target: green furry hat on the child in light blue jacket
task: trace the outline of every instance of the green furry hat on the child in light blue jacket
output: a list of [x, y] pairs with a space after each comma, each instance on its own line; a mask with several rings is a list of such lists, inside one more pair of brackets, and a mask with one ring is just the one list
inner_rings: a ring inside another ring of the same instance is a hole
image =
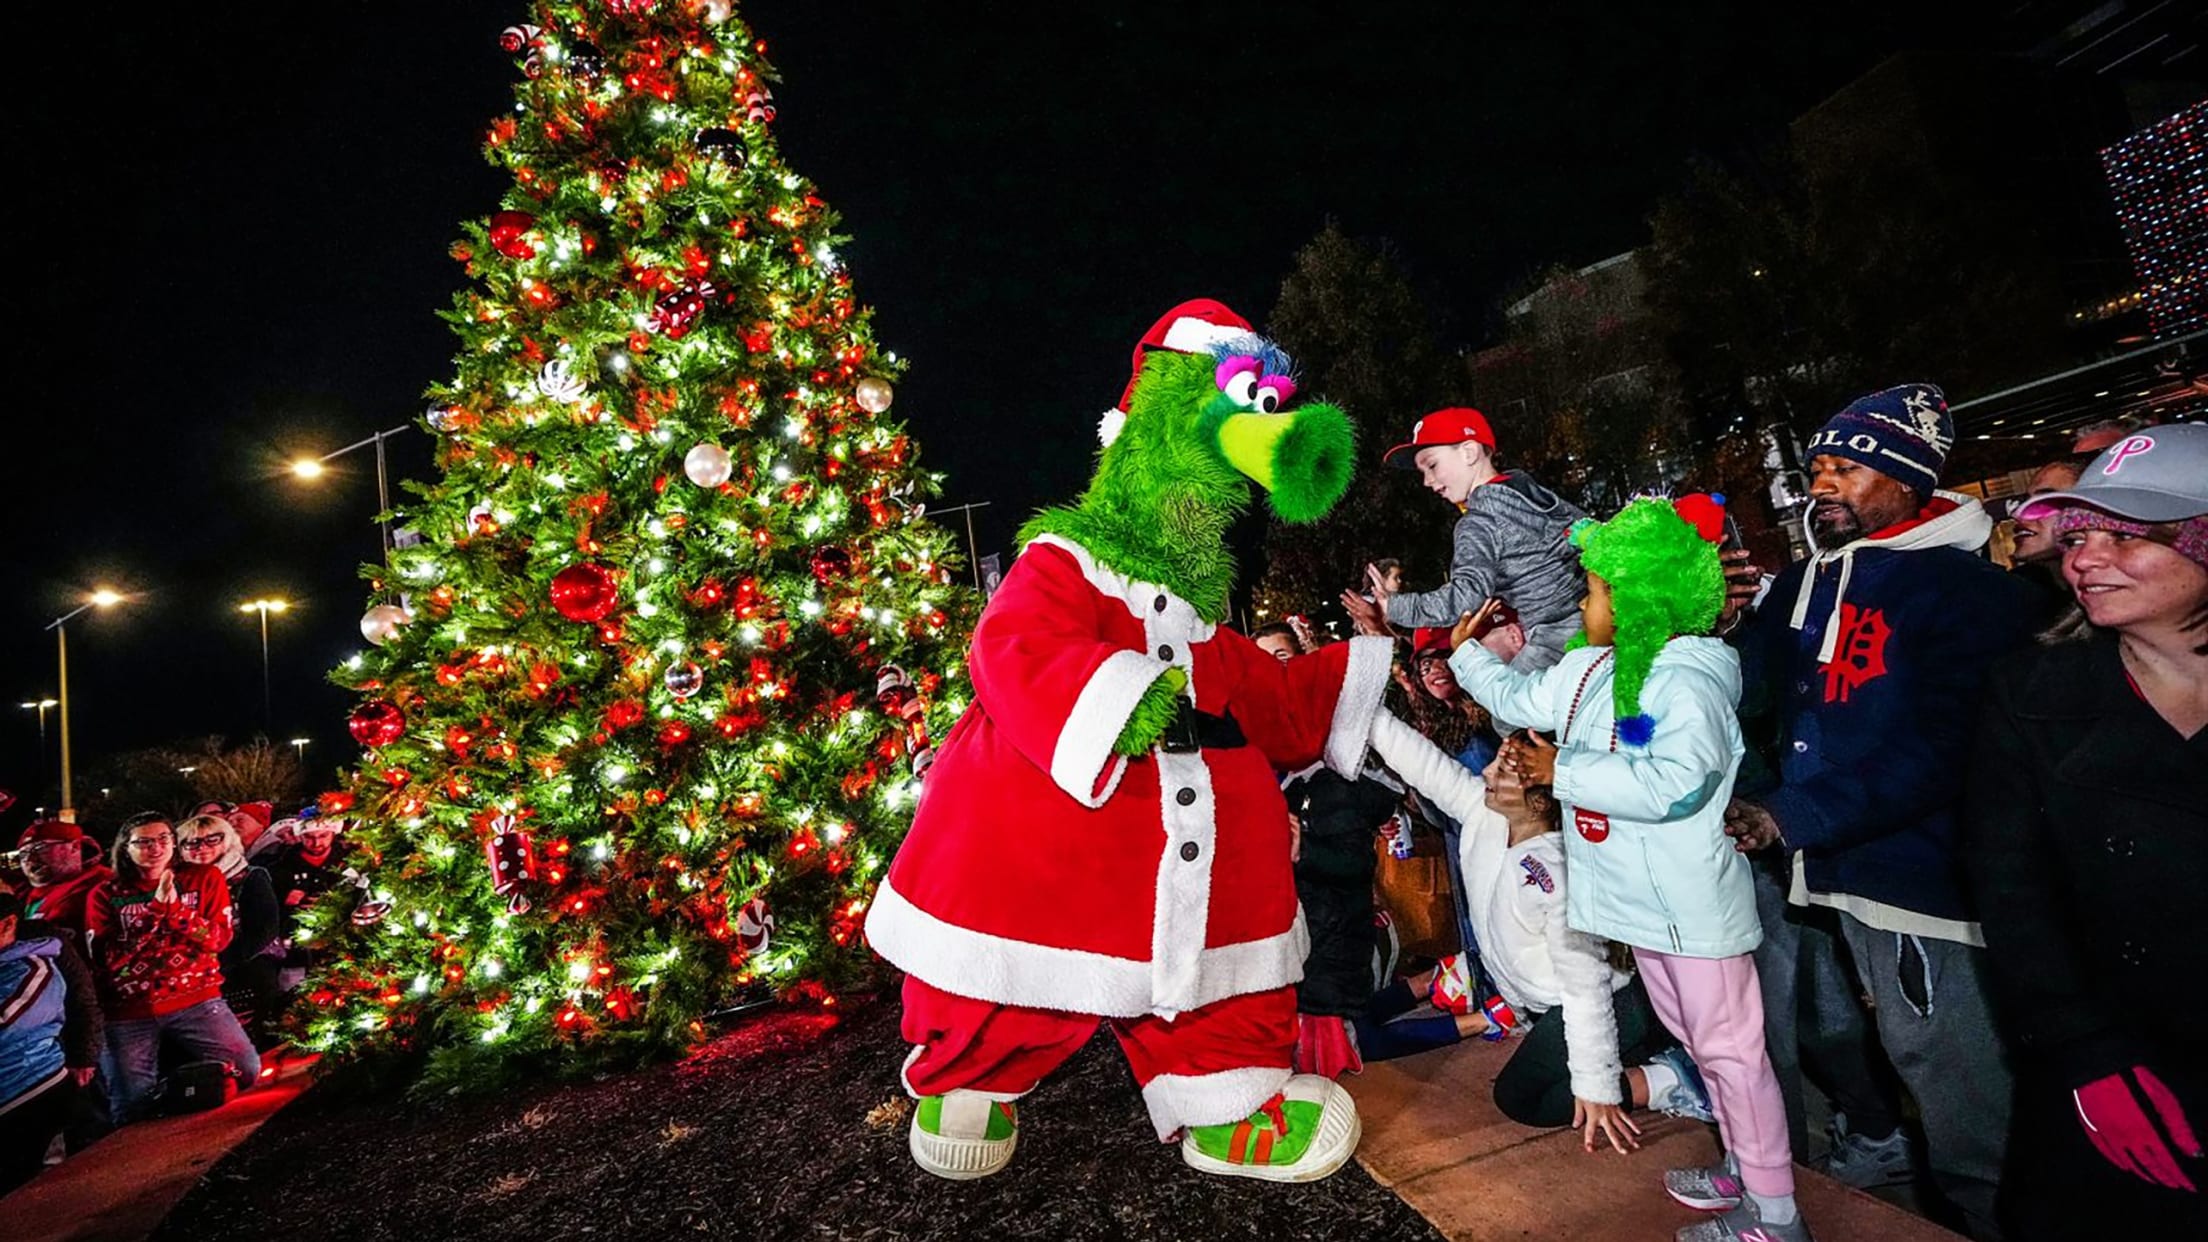
[[[1616, 623], [1616, 676], [1610, 703], [1618, 740], [1645, 747], [1656, 720], [1641, 712], [1641, 687], [1663, 645], [1678, 634], [1707, 634], [1724, 610], [1722, 495], [1641, 497], [1610, 522], [1579, 522], [1579, 564], [1610, 583]], [[1585, 645], [1585, 634], [1572, 641]]]

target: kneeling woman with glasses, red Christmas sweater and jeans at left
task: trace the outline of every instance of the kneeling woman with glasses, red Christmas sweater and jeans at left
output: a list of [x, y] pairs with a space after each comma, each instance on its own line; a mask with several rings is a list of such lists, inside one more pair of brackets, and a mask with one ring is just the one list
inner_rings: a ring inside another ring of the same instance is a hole
[[141, 813], [115, 840], [115, 880], [86, 911], [108, 1017], [106, 1078], [117, 1123], [144, 1116], [161, 1078], [161, 1045], [223, 1061], [252, 1087], [261, 1054], [223, 1003], [219, 955], [232, 937], [223, 873], [177, 862], [177, 829]]

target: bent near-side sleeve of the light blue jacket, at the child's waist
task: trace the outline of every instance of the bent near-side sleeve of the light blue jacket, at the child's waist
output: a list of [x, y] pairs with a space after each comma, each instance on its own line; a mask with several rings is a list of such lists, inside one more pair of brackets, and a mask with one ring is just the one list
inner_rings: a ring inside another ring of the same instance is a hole
[[1641, 690], [1656, 718], [1647, 747], [1570, 747], [1557, 754], [1557, 798], [1658, 824], [1700, 811], [1733, 776], [1731, 687], [1694, 667], [1658, 667]]

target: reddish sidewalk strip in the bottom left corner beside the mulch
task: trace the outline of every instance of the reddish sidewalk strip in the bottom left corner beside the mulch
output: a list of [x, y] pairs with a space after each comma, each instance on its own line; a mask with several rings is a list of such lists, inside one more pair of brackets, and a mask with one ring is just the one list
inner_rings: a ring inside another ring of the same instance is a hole
[[289, 1056], [212, 1112], [126, 1125], [0, 1198], [7, 1242], [139, 1242], [261, 1123], [307, 1090], [314, 1056]]

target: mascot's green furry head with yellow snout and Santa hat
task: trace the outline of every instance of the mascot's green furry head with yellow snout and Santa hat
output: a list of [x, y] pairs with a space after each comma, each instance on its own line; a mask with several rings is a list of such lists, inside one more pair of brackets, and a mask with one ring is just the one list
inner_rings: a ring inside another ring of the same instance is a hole
[[1225, 535], [1250, 484], [1265, 488], [1281, 519], [1316, 522], [1356, 469], [1342, 411], [1294, 398], [1287, 354], [1239, 314], [1210, 298], [1172, 307], [1135, 345], [1135, 376], [1104, 415], [1089, 491], [1038, 513], [1020, 541], [1064, 535], [1100, 564], [1172, 590], [1206, 621], [1225, 619], [1234, 586]]

